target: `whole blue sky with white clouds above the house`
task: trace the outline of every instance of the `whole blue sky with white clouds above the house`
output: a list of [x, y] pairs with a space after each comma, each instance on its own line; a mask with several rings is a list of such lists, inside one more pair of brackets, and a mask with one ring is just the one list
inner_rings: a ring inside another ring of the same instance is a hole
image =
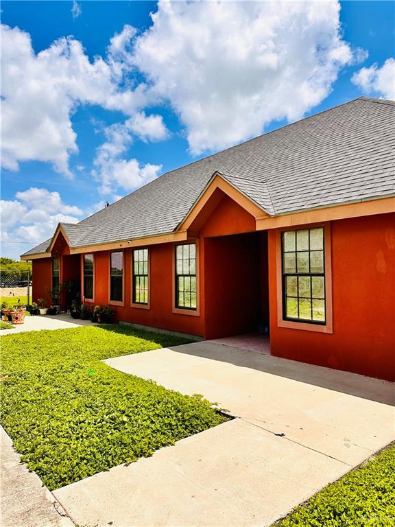
[[3, 1], [1, 254], [211, 152], [393, 98], [394, 5]]

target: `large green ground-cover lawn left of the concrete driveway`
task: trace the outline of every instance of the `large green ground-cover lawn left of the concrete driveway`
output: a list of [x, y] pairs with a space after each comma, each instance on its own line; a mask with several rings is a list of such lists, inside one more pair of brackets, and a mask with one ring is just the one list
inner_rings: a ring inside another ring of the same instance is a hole
[[57, 489], [226, 421], [101, 359], [187, 342], [103, 325], [1, 338], [1, 423], [30, 470]]

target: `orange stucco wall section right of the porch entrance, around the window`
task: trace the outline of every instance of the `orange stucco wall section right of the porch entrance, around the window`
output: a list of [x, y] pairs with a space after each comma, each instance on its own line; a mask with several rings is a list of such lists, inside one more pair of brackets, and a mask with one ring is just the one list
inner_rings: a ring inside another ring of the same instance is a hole
[[272, 355], [395, 380], [395, 213], [331, 223], [333, 333], [277, 326], [270, 232]]

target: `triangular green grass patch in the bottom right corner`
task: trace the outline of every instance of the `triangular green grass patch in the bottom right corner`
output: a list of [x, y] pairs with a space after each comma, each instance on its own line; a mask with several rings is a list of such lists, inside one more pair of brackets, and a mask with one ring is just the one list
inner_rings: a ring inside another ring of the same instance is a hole
[[276, 527], [394, 527], [395, 445], [325, 487]]

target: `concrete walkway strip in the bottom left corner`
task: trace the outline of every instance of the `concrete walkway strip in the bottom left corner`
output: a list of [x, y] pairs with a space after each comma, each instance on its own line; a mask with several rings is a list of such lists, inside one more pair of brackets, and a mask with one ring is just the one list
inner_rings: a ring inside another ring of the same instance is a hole
[[1, 527], [74, 527], [40, 478], [21, 465], [10, 437], [1, 432]]

